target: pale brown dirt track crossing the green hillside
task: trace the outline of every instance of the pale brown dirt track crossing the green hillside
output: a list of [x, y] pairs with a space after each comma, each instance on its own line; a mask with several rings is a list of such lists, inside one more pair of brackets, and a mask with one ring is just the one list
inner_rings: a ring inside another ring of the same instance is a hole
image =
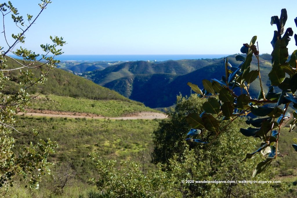
[[87, 119], [111, 119], [111, 120], [136, 120], [136, 119], [165, 119], [167, 115], [163, 113], [154, 113], [154, 112], [141, 112], [131, 116], [124, 117], [103, 117], [103, 116], [86, 116], [86, 115], [65, 115], [63, 112], [59, 114], [50, 114], [50, 113], [18, 113], [17, 115], [25, 116], [45, 116], [45, 117], [55, 117], [55, 118], [87, 118]]

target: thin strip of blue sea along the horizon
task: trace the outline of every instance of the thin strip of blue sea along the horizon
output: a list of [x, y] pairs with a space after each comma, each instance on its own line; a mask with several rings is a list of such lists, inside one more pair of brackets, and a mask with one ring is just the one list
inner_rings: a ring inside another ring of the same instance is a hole
[[177, 54], [177, 55], [60, 55], [60, 61], [167, 61], [182, 59], [222, 58], [227, 54]]

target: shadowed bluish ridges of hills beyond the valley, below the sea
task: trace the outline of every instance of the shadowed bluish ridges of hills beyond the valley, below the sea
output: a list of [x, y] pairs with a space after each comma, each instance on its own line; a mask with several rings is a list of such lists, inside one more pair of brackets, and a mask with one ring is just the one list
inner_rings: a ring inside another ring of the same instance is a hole
[[[241, 62], [235, 60], [236, 55], [229, 56], [229, 62], [238, 66]], [[262, 58], [263, 57], [263, 58]], [[252, 70], [257, 69], [257, 60], [253, 59]], [[268, 90], [268, 73], [271, 70], [271, 56], [260, 56], [260, 70], [263, 78], [263, 88]], [[168, 107], [176, 102], [176, 95], [191, 93], [187, 82], [202, 87], [202, 80], [216, 78], [221, 80], [225, 75], [224, 61], [221, 59], [181, 60], [150, 63], [135, 61], [110, 66], [102, 71], [90, 72], [87, 77], [102, 84], [129, 99], [143, 102], [151, 108]], [[257, 97], [259, 80], [250, 86], [250, 93]]]

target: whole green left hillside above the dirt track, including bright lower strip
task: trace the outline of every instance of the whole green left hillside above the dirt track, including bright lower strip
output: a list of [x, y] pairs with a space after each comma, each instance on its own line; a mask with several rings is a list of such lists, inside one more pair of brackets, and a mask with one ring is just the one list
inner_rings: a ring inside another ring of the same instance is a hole
[[[7, 65], [9, 68], [17, 67], [16, 62], [11, 59], [8, 59]], [[32, 69], [32, 72], [40, 75], [40, 69]], [[15, 70], [8, 75], [10, 80], [4, 93], [18, 93], [18, 83], [22, 80], [20, 71]], [[107, 117], [120, 117], [143, 111], [156, 112], [143, 103], [130, 100], [116, 91], [62, 69], [50, 70], [47, 79], [44, 85], [29, 87], [28, 91], [32, 95], [41, 94], [30, 102], [30, 109], [89, 113]]]

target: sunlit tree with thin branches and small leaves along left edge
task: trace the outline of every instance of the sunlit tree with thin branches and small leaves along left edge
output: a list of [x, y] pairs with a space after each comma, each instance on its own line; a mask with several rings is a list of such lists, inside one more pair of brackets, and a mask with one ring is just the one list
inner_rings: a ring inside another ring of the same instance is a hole
[[[27, 14], [26, 18], [19, 15], [18, 9], [10, 1], [0, 4], [3, 17], [1, 33], [4, 37], [4, 43], [1, 43], [0, 47], [0, 188], [7, 184], [12, 186], [15, 176], [24, 180], [26, 186], [29, 184], [31, 187], [37, 187], [38, 179], [50, 171], [47, 156], [53, 153], [57, 146], [50, 139], [39, 141], [37, 139], [37, 144], [30, 142], [17, 150], [14, 147], [15, 140], [12, 134], [12, 132], [18, 132], [14, 128], [13, 115], [23, 111], [32, 99], [28, 94], [28, 88], [37, 83], [44, 83], [49, 70], [59, 62], [54, 59], [55, 56], [63, 53], [61, 49], [56, 48], [65, 44], [62, 37], [50, 37], [53, 44], [40, 45], [44, 51], [42, 55], [22, 47], [15, 49], [18, 44], [25, 42], [28, 29], [36, 22], [49, 3], [51, 2], [48, 0], [41, 0], [39, 14], [36, 17]], [[8, 16], [19, 30], [17, 34], [10, 34], [12, 38], [8, 36], [10, 29], [4, 23]], [[9, 54], [14, 54], [23, 60], [12, 58]], [[12, 59], [14, 64], [8, 66], [7, 59]], [[34, 75], [32, 69], [39, 69], [40, 75]], [[15, 86], [18, 86], [18, 92], [5, 94], [6, 85], [11, 83], [9, 81], [11, 72], [18, 72], [20, 75], [15, 83]], [[33, 134], [37, 136], [38, 132], [33, 130]]]

